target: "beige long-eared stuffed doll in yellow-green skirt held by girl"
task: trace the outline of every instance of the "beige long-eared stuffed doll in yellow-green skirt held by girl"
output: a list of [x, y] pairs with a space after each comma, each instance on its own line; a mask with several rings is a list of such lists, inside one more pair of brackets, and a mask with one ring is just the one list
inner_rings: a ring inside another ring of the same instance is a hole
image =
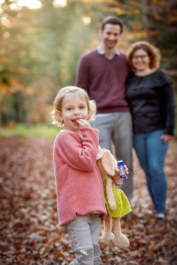
[[[116, 178], [119, 177], [117, 161], [109, 150], [103, 150], [99, 147], [97, 163], [104, 181], [104, 199], [108, 211], [106, 220], [104, 220], [102, 242], [108, 246], [118, 246], [124, 249], [129, 246], [130, 242], [126, 235], [121, 233], [120, 218], [130, 213], [132, 209], [126, 195], [117, 188], [122, 184], [121, 178], [119, 178], [118, 183], [115, 182], [115, 176]], [[112, 220], [114, 233], [112, 233]]]

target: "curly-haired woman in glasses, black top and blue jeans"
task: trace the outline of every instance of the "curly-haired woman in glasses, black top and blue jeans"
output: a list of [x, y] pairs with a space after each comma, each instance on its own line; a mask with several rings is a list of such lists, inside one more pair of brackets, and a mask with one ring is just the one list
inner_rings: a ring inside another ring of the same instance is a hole
[[134, 72], [127, 80], [134, 149], [145, 172], [156, 218], [163, 220], [167, 198], [163, 166], [169, 141], [174, 139], [172, 80], [158, 69], [161, 55], [150, 43], [134, 43], [128, 50], [127, 59]]

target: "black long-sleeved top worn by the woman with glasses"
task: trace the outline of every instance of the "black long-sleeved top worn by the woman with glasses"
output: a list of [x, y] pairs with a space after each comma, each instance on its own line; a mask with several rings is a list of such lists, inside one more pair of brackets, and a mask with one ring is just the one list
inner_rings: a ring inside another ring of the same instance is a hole
[[165, 129], [165, 133], [173, 135], [174, 93], [169, 76], [160, 70], [148, 76], [132, 74], [126, 85], [134, 133]]

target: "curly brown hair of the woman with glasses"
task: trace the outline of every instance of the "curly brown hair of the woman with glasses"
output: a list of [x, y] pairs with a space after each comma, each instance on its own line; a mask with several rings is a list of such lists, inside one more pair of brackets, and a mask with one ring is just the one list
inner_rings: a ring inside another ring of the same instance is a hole
[[150, 56], [150, 69], [158, 69], [161, 62], [161, 53], [158, 48], [154, 45], [148, 43], [147, 41], [137, 41], [137, 43], [133, 43], [127, 51], [126, 58], [132, 70], [134, 71], [134, 67], [132, 65], [132, 56], [135, 51], [138, 49], [143, 49], [147, 52], [148, 56]]

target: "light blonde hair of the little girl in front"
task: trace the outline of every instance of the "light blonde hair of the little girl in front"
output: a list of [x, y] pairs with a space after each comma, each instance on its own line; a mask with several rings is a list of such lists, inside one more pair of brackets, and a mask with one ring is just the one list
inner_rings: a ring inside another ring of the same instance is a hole
[[58, 119], [56, 112], [60, 112], [62, 114], [62, 101], [67, 93], [77, 93], [78, 95], [80, 95], [80, 97], [86, 101], [88, 108], [88, 120], [94, 119], [97, 112], [96, 102], [94, 100], [89, 100], [88, 94], [84, 89], [81, 89], [80, 87], [68, 86], [60, 89], [58, 91], [58, 94], [56, 95], [56, 98], [54, 100], [54, 109], [53, 111], [51, 111], [52, 124], [56, 124], [57, 126], [64, 126], [63, 121]]

